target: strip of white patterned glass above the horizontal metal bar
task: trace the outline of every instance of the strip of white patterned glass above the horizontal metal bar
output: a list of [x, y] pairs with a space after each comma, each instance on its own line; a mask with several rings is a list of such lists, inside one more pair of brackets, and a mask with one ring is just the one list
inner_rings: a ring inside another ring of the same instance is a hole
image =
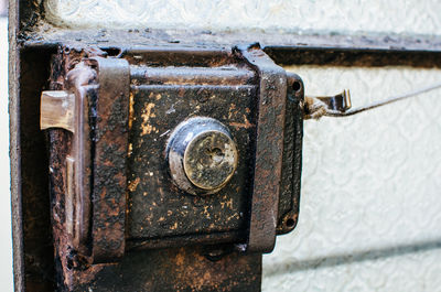
[[439, 34], [438, 0], [45, 0], [58, 25]]

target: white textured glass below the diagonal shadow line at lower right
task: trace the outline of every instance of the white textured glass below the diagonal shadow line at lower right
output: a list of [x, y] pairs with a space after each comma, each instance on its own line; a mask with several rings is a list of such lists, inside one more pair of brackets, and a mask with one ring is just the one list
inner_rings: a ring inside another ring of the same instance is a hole
[[439, 292], [441, 250], [364, 258], [341, 264], [314, 262], [310, 269], [291, 267], [289, 273], [266, 273], [265, 291]]

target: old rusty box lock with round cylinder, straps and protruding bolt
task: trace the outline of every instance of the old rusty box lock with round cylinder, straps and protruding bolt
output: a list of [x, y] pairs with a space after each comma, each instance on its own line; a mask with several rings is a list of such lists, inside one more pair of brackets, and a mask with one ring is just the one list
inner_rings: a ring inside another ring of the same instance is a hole
[[119, 50], [58, 56], [73, 68], [42, 94], [41, 128], [72, 133], [50, 145], [68, 282], [130, 249], [271, 251], [298, 218], [301, 78], [258, 45]]

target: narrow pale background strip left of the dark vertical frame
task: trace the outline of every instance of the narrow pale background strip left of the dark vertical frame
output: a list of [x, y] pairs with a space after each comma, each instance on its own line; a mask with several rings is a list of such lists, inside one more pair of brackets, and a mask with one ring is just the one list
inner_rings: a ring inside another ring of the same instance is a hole
[[8, 2], [0, 0], [0, 291], [13, 291], [9, 192]]

